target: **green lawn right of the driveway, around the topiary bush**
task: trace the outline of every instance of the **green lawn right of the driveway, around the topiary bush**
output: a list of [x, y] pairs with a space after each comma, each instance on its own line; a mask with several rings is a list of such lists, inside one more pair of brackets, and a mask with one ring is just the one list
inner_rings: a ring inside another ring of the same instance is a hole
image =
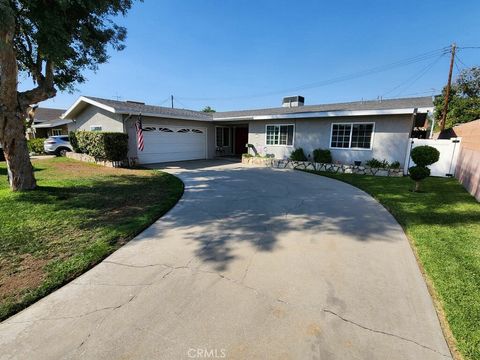
[[466, 359], [480, 359], [480, 204], [456, 179], [318, 173], [377, 199], [403, 226]]

